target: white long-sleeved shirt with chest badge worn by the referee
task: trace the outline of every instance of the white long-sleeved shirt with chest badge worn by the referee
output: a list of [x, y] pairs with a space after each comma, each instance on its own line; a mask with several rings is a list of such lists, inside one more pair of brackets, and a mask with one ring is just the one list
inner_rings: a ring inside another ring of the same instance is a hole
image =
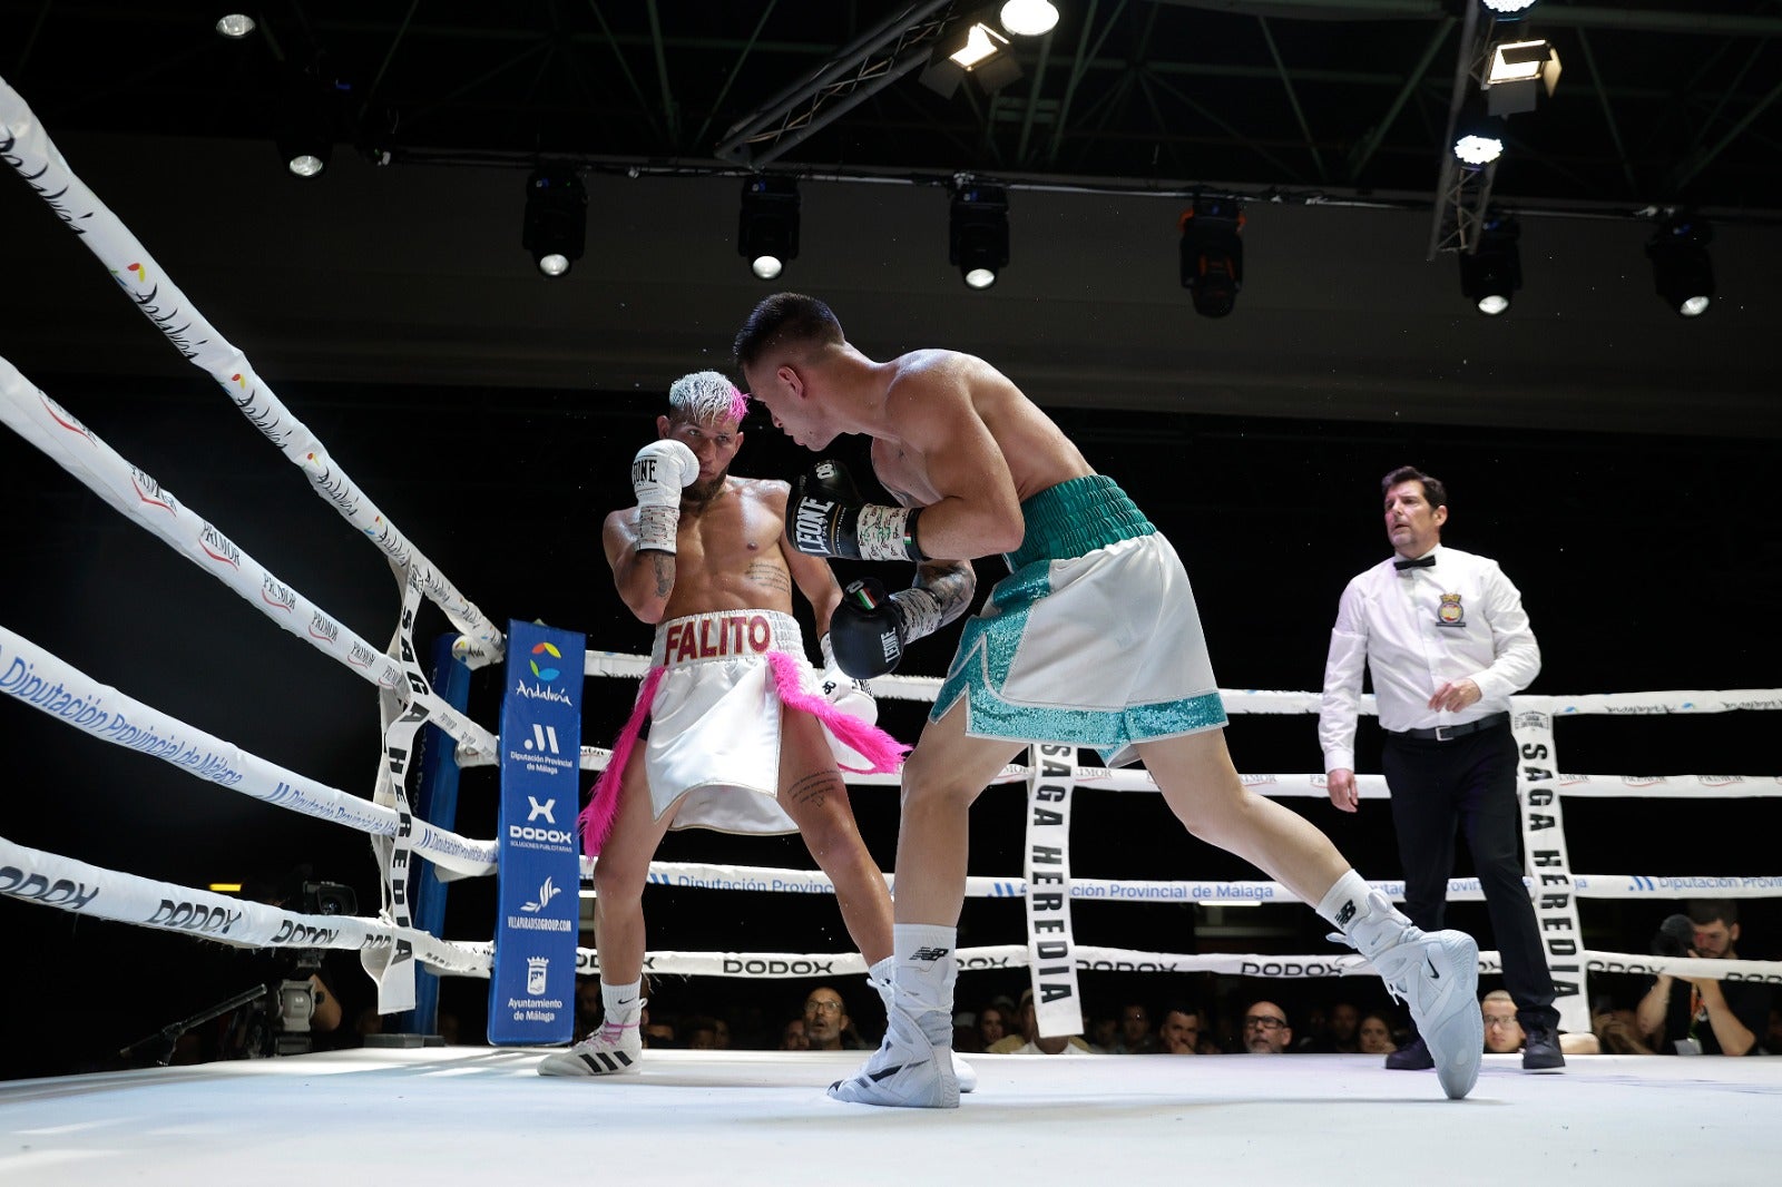
[[[1443, 545], [1427, 569], [1383, 560], [1342, 592], [1324, 665], [1319, 745], [1324, 770], [1354, 770], [1354, 718], [1361, 665], [1374, 677], [1379, 727], [1392, 733], [1461, 725], [1509, 708], [1509, 695], [1541, 670], [1541, 649], [1522, 610], [1522, 594], [1497, 561]], [[1470, 679], [1479, 700], [1438, 713], [1429, 697]]]

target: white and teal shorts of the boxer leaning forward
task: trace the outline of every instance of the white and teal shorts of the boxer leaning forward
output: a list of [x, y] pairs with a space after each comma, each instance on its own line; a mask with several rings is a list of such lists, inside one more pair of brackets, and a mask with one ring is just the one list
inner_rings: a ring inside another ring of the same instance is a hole
[[1133, 741], [1222, 727], [1189, 574], [1126, 492], [1091, 474], [1021, 512], [1021, 549], [966, 620], [928, 720], [964, 697], [973, 738], [1092, 747], [1110, 765]]

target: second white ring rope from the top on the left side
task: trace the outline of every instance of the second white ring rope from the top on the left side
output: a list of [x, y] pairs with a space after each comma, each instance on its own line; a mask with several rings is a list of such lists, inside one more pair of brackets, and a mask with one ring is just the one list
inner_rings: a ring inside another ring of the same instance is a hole
[[5, 358], [0, 358], [0, 421], [283, 631], [339, 661], [360, 679], [394, 692], [405, 702], [422, 700], [433, 722], [462, 747], [494, 749], [495, 740], [490, 731], [428, 690], [413, 688], [394, 658], [267, 572], [214, 524], [180, 503], [150, 474], [130, 465], [71, 412], [34, 387]]

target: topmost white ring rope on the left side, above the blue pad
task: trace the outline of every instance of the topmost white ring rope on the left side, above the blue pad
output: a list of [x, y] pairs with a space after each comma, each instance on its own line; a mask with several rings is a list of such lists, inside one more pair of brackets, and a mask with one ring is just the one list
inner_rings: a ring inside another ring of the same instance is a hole
[[180, 355], [210, 378], [285, 458], [303, 471], [315, 492], [349, 524], [401, 567], [417, 574], [421, 588], [446, 617], [476, 642], [478, 658], [499, 659], [501, 631], [365, 497], [335, 465], [321, 440], [266, 387], [248, 356], [205, 321], [160, 264], [128, 228], [73, 175], [61, 150], [25, 100], [0, 78], [0, 159], [43, 198], [57, 217], [100, 258]]

